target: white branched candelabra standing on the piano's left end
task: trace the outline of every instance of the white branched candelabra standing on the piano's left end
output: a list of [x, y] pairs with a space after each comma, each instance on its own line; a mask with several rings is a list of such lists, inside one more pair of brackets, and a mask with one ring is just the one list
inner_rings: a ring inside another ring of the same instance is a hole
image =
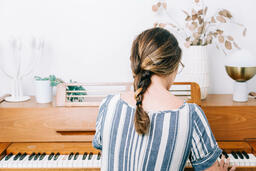
[[[6, 97], [5, 100], [8, 102], [21, 102], [29, 100], [29, 96], [23, 95], [22, 90], [22, 79], [29, 74], [33, 72], [35, 69], [36, 63], [38, 59], [43, 54], [44, 49], [44, 40], [40, 38], [33, 37], [30, 42], [30, 48], [31, 48], [31, 58], [30, 62], [26, 66], [21, 66], [22, 60], [24, 60], [24, 42], [20, 38], [12, 38], [10, 41], [10, 46], [13, 52], [13, 58], [16, 61], [13, 63], [15, 71], [8, 72], [3, 68], [3, 66], [0, 66], [0, 70], [10, 79], [12, 79], [12, 87], [11, 87], [11, 96]], [[23, 71], [21, 68], [25, 68]]]

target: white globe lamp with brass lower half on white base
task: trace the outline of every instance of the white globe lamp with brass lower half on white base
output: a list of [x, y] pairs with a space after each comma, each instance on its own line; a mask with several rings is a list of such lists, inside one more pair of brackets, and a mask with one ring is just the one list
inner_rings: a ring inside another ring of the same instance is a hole
[[247, 50], [239, 50], [226, 59], [228, 75], [234, 80], [233, 100], [248, 101], [247, 81], [256, 74], [256, 58]]

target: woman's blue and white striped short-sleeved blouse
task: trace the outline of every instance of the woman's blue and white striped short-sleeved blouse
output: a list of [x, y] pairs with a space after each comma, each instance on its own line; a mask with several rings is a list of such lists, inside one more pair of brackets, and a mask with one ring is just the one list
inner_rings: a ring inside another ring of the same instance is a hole
[[135, 108], [119, 95], [100, 105], [93, 146], [102, 150], [101, 170], [183, 170], [187, 159], [195, 170], [210, 167], [221, 154], [202, 109], [186, 103], [176, 110], [148, 112], [149, 133], [134, 129]]

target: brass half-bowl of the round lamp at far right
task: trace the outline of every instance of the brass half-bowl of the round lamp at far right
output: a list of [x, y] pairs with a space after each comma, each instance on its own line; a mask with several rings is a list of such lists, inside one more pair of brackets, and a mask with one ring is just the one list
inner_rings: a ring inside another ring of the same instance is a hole
[[225, 66], [228, 75], [237, 82], [250, 80], [256, 74], [256, 67]]

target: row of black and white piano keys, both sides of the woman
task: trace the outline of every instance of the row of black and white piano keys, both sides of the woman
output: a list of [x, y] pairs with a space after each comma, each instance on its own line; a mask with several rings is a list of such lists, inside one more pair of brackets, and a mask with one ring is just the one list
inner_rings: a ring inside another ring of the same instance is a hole
[[[225, 157], [230, 157], [230, 165], [237, 165], [241, 167], [256, 166], [256, 157], [253, 154], [246, 152], [232, 152], [227, 154], [223, 152]], [[220, 161], [220, 157], [218, 158]], [[69, 155], [60, 155], [60, 153], [12, 153], [6, 155], [0, 161], [0, 168], [100, 168], [101, 154], [93, 153], [79, 154], [70, 153]], [[186, 167], [192, 167], [190, 161], [186, 162]]]

